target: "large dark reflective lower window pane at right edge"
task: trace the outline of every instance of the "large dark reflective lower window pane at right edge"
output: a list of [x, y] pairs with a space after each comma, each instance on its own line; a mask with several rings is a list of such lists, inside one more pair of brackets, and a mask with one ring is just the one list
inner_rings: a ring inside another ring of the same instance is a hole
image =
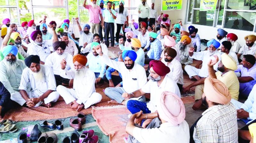
[[256, 13], [226, 11], [224, 28], [253, 31]]

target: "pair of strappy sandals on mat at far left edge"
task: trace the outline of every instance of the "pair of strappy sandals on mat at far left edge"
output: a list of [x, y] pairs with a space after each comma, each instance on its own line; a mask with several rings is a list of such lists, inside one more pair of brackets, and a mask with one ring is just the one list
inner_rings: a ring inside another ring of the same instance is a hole
[[5, 119], [1, 122], [0, 132], [16, 132], [18, 129], [15, 124], [13, 124], [12, 120]]

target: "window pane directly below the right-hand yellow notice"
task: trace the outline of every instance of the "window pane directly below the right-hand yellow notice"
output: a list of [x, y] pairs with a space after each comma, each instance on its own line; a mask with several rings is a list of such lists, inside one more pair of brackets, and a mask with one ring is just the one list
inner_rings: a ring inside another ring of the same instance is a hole
[[214, 11], [194, 10], [193, 24], [213, 26]]

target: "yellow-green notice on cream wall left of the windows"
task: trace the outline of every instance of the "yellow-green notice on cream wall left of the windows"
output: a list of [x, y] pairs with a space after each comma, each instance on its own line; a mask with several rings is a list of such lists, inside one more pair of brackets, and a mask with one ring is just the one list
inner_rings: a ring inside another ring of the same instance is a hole
[[162, 0], [162, 11], [181, 10], [182, 0]]

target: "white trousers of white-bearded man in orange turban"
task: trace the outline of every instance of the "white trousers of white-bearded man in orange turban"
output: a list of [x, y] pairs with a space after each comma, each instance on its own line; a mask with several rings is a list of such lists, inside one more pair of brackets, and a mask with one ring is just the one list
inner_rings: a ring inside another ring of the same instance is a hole
[[[60, 93], [60, 96], [63, 97], [66, 104], [69, 104], [78, 99], [76, 95], [76, 91], [72, 88], [70, 89], [70, 88], [59, 85], [57, 87], [57, 92]], [[101, 99], [102, 99], [102, 96], [99, 93], [97, 92], [92, 93], [92, 95], [85, 102], [83, 102], [84, 109], [89, 108], [93, 104], [99, 103]]]

